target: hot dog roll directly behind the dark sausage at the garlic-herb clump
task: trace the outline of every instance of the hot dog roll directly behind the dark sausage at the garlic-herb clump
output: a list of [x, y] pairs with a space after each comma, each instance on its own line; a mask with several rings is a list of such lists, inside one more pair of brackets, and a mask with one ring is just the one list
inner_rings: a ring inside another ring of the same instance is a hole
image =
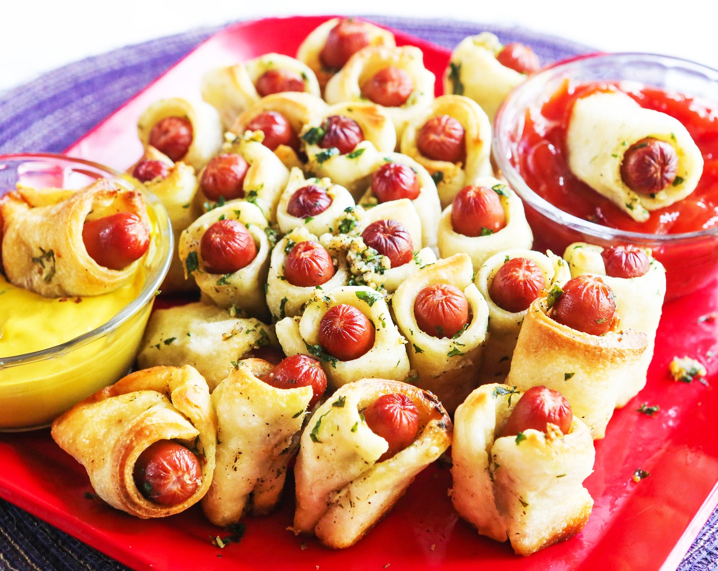
[[359, 200], [360, 205], [368, 208], [402, 198], [411, 200], [421, 219], [421, 243], [436, 250], [441, 204], [437, 185], [429, 171], [405, 154], [387, 153], [377, 157], [370, 185]]

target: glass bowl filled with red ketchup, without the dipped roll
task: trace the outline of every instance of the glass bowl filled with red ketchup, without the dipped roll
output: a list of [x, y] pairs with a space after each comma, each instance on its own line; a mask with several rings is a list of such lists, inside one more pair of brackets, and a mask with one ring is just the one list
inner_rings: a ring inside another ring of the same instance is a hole
[[[533, 75], [495, 119], [493, 157], [523, 199], [534, 249], [562, 254], [574, 241], [651, 248], [666, 266], [668, 299], [718, 275], [718, 70], [651, 54], [593, 54]], [[577, 98], [622, 90], [673, 116], [704, 159], [696, 190], [638, 222], [570, 170], [567, 129]]]

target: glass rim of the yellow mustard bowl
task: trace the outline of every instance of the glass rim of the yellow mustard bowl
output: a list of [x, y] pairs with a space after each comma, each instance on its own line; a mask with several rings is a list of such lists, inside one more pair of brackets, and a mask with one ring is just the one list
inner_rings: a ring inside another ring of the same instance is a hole
[[[85, 166], [91, 167], [95, 170], [106, 172], [107, 175], [110, 177], [126, 180], [126, 175], [123, 172], [115, 170], [112, 167], [108, 167], [104, 164], [100, 164], [97, 162], [88, 161], [86, 159], [70, 157], [66, 154], [0, 154], [0, 164], [2, 164], [3, 162], [22, 160], [47, 160], [48, 162], [57, 161], [84, 164]], [[58, 356], [62, 356], [65, 353], [69, 353], [70, 351], [74, 351], [75, 349], [88, 345], [89, 343], [92, 343], [93, 341], [102, 338], [107, 333], [116, 330], [120, 325], [129, 320], [130, 317], [139, 312], [141, 307], [144, 307], [144, 305], [146, 305], [146, 303], [149, 302], [149, 300], [151, 300], [151, 298], [157, 294], [157, 291], [159, 290], [159, 285], [162, 284], [162, 280], [167, 274], [167, 271], [169, 270], [169, 264], [172, 261], [172, 252], [174, 249], [174, 238], [171, 231], [172, 226], [169, 220], [169, 214], [167, 213], [167, 209], [164, 208], [164, 205], [159, 200], [159, 198], [149, 192], [149, 190], [147, 190], [143, 185], [139, 186], [139, 190], [141, 190], [146, 202], [151, 205], [152, 209], [154, 210], [155, 216], [157, 217], [157, 226], [159, 229], [158, 235], [162, 239], [159, 241], [159, 252], [157, 254], [159, 256], [159, 263], [155, 264], [154, 267], [150, 268], [149, 273], [147, 274], [147, 277], [144, 281], [144, 286], [140, 290], [137, 297], [131, 302], [129, 302], [129, 304], [125, 305], [121, 310], [119, 310], [115, 315], [113, 315], [102, 325], [99, 325], [97, 328], [90, 330], [87, 333], [83, 333], [83, 335], [79, 335], [78, 337], [67, 340], [65, 341], [65, 343], [60, 343], [60, 345], [53, 345], [52, 347], [40, 349], [39, 351], [33, 351], [32, 353], [22, 353], [20, 355], [0, 357], [0, 371], [3, 368], [9, 366], [35, 363], [37, 361], [42, 361], [45, 358], [55, 358]], [[33, 379], [28, 379], [28, 381], [32, 380]]]

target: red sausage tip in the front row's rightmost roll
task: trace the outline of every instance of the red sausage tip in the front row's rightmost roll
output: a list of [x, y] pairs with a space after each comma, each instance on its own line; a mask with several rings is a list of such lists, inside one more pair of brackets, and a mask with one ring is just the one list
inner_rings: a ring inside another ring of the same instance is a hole
[[516, 436], [529, 428], [546, 433], [549, 422], [556, 424], [567, 435], [573, 421], [571, 405], [564, 395], [545, 386], [533, 386], [521, 395], [513, 407], [501, 436]]

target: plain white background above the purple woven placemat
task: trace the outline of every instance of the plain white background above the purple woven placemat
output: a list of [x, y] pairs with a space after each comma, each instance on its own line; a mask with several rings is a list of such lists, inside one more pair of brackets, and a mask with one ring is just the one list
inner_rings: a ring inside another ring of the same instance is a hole
[[718, 68], [715, 0], [4, 0], [0, 92], [124, 45], [238, 19], [386, 14], [516, 25], [606, 51], [677, 55]]

